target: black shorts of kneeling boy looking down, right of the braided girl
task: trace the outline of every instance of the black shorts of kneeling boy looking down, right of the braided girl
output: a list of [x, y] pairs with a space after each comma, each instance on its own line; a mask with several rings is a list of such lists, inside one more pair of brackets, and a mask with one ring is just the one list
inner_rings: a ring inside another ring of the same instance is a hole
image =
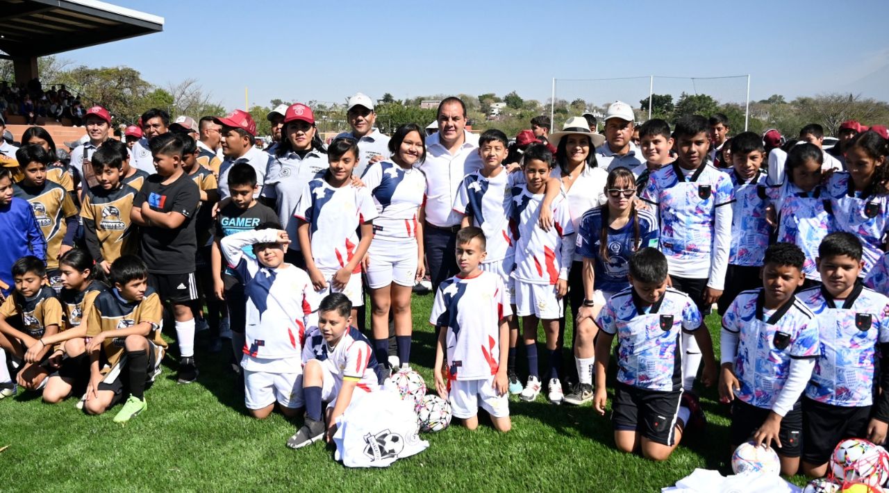
[[657, 392], [618, 382], [612, 404], [614, 431], [635, 431], [648, 440], [672, 447], [676, 443], [681, 397], [681, 390]]

